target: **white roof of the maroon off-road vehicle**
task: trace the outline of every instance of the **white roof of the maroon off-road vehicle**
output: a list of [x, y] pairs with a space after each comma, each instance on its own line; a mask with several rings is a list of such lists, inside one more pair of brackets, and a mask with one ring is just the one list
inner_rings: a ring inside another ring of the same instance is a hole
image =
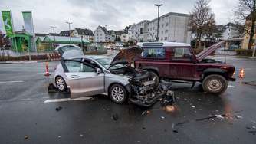
[[137, 43], [137, 46], [139, 47], [189, 47], [190, 44], [159, 41], [159, 42], [139, 42]]

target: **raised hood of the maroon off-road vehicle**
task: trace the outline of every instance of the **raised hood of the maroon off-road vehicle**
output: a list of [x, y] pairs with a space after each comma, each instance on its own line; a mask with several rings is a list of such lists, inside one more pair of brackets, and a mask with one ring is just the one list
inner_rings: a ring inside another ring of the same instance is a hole
[[199, 54], [196, 55], [197, 61], [202, 61], [205, 57], [207, 57], [209, 54], [212, 54], [216, 49], [222, 46], [225, 41], [219, 41], [216, 44], [213, 44], [211, 47], [206, 48], [204, 51], [201, 51]]

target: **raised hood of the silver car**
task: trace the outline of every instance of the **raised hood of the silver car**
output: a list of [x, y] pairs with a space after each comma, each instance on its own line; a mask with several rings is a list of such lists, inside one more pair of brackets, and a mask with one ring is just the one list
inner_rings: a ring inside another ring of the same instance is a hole
[[140, 47], [124, 48], [113, 57], [110, 67], [120, 63], [132, 64], [142, 52], [143, 49]]

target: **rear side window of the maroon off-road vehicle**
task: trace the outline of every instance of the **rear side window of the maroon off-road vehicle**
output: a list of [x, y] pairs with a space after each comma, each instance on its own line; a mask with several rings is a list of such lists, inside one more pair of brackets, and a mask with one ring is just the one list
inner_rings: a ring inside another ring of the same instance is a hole
[[165, 58], [166, 51], [164, 47], [146, 47], [143, 48], [143, 53], [141, 54], [144, 58]]

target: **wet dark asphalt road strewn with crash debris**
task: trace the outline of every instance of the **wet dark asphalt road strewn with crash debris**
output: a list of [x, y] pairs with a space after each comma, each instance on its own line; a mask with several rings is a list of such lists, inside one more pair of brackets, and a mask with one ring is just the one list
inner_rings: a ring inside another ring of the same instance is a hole
[[[221, 97], [202, 93], [199, 84], [174, 83], [173, 112], [159, 103], [117, 105], [106, 96], [44, 103], [69, 97], [47, 92], [44, 63], [0, 64], [0, 143], [255, 143], [256, 87], [241, 82], [256, 81], [256, 60], [227, 61], [236, 77], [245, 68], [245, 78], [228, 83]], [[50, 63], [51, 74], [56, 64]]]

